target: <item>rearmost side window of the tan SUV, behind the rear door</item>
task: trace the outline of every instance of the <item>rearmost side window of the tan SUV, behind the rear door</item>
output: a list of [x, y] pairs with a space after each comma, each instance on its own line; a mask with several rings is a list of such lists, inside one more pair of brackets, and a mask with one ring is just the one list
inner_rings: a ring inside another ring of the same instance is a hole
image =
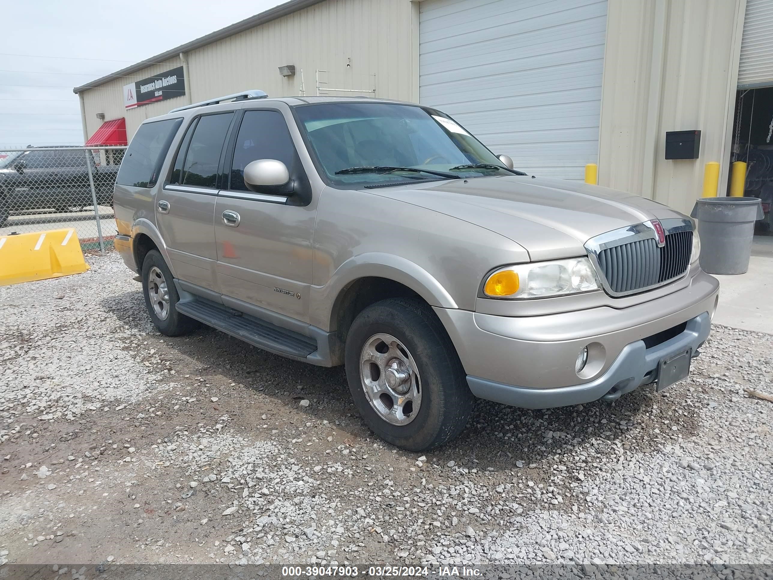
[[140, 125], [126, 150], [121, 169], [118, 169], [116, 183], [122, 186], [154, 186], [181, 123], [182, 119], [166, 119]]

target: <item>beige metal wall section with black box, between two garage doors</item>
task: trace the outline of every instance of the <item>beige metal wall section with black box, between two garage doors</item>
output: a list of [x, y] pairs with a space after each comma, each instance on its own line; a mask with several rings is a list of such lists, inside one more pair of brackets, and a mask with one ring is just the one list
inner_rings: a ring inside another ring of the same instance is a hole
[[[599, 184], [690, 213], [707, 162], [730, 162], [746, 0], [609, 0]], [[701, 131], [700, 158], [665, 159], [666, 131]]]

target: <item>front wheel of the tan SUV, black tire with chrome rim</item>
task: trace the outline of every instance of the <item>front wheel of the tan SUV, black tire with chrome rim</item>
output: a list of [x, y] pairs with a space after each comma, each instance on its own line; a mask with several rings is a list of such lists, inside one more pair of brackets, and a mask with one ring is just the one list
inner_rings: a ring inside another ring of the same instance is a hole
[[345, 360], [359, 415], [384, 441], [424, 451], [467, 425], [475, 397], [448, 333], [421, 300], [386, 299], [360, 312], [346, 337]]

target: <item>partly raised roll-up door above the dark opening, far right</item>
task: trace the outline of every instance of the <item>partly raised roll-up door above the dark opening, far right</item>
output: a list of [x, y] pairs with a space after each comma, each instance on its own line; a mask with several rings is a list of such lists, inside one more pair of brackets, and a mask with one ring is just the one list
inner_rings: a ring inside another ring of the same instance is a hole
[[773, 86], [773, 0], [747, 0], [738, 88]]

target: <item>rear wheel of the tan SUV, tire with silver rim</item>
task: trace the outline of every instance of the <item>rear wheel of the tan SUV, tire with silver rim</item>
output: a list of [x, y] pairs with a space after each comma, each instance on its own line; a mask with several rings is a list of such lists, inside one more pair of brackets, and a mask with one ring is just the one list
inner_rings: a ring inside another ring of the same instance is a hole
[[153, 324], [163, 335], [181, 336], [199, 326], [198, 321], [175, 309], [180, 297], [172, 272], [158, 250], [149, 251], [142, 261], [142, 294]]

